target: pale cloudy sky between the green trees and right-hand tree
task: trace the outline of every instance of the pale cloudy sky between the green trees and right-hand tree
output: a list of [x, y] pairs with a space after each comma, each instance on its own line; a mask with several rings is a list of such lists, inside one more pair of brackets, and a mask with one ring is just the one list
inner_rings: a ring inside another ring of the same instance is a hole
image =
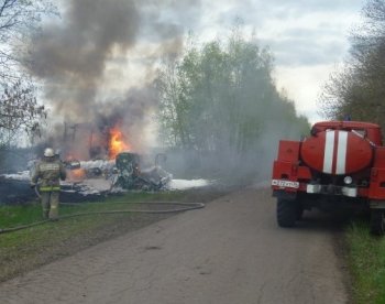
[[[206, 3], [207, 2], [207, 3]], [[316, 99], [349, 52], [349, 33], [361, 20], [363, 0], [202, 0], [194, 31], [216, 36], [235, 18], [254, 29], [275, 57], [275, 78], [311, 122], [322, 119]], [[187, 19], [191, 20], [191, 19]]]

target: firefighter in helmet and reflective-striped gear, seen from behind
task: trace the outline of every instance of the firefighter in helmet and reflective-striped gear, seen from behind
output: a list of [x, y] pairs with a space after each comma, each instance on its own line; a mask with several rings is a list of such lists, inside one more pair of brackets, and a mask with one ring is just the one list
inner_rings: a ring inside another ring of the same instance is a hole
[[43, 217], [45, 219], [58, 219], [58, 203], [61, 182], [66, 178], [66, 171], [63, 163], [55, 156], [54, 150], [44, 150], [44, 158], [37, 163], [31, 180], [31, 187], [40, 184]]

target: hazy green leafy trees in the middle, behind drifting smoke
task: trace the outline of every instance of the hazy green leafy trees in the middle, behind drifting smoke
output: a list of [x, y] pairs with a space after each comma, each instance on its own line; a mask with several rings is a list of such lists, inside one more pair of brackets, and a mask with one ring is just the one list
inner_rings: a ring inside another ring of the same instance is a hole
[[180, 58], [163, 66], [157, 79], [164, 143], [231, 155], [239, 164], [271, 145], [267, 141], [299, 139], [309, 130], [308, 120], [277, 90], [273, 69], [270, 51], [240, 28], [228, 40], [191, 43]]

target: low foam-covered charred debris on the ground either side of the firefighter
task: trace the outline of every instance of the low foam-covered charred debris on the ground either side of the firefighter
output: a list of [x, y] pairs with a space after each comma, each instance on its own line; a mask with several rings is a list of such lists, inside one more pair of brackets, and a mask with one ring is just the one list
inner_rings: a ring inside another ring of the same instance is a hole
[[[155, 158], [148, 165], [140, 154], [121, 152], [116, 160], [63, 160], [68, 177], [62, 183], [63, 202], [98, 200], [110, 194], [125, 191], [167, 189], [173, 176], [163, 170]], [[22, 204], [36, 197], [30, 188], [30, 178], [37, 160], [29, 162], [28, 170], [16, 174], [0, 175], [0, 204]], [[143, 167], [143, 169], [142, 169]]]

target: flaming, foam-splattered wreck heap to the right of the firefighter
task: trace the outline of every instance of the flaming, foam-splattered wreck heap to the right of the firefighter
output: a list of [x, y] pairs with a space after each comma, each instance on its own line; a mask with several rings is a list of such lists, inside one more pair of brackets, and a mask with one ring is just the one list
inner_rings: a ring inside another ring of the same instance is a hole
[[[165, 155], [151, 158], [132, 152], [136, 145], [129, 138], [130, 133], [117, 118], [99, 119], [98, 124], [65, 123], [64, 151], [58, 156], [68, 169], [69, 181], [101, 177], [110, 181], [113, 191], [163, 189], [172, 180], [172, 174], [160, 166], [160, 160], [165, 161]], [[80, 161], [85, 159], [89, 161]]]

